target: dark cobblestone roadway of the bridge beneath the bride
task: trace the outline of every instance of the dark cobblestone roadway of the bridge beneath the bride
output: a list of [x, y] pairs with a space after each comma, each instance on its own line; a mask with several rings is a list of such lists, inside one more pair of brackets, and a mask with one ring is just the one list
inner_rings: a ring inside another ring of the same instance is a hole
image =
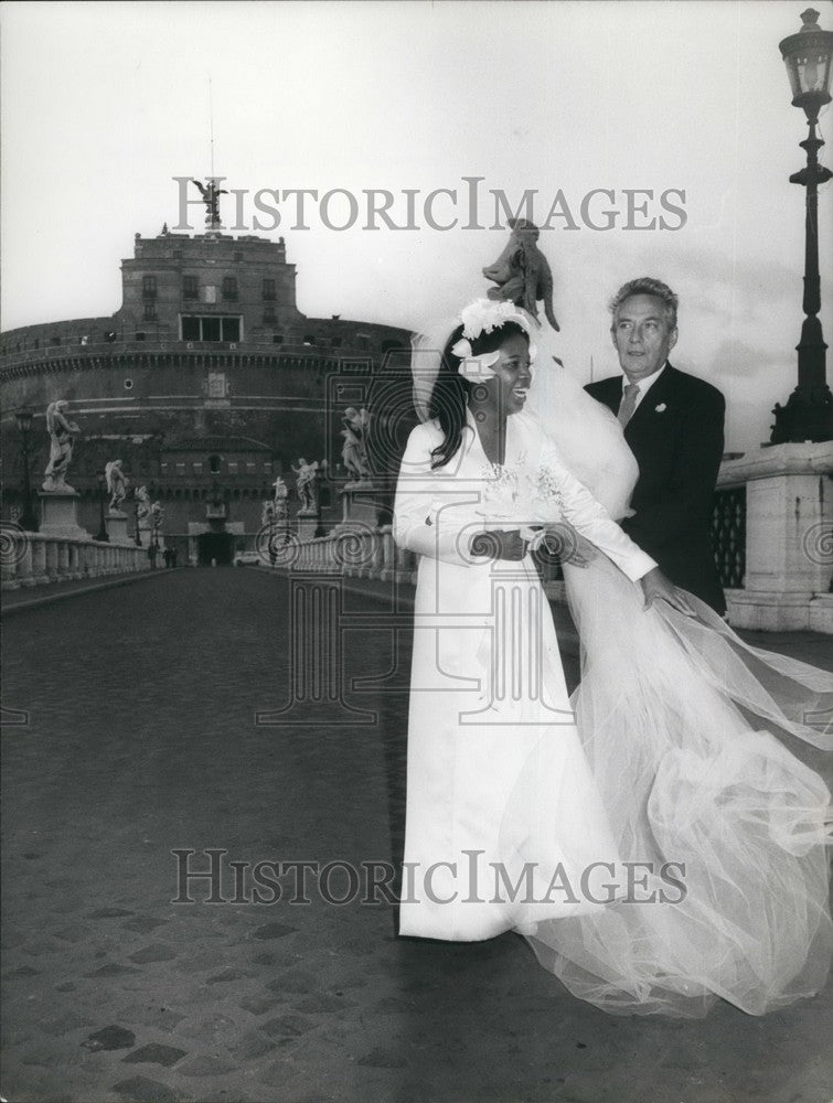
[[[350, 697], [375, 721], [338, 725], [332, 687], [296, 671], [321, 688], [317, 722], [256, 726], [290, 699], [289, 585], [160, 572], [9, 621], [3, 700], [29, 724], [2, 737], [4, 1099], [829, 1103], [829, 998], [616, 1018], [515, 935], [397, 939], [391, 906], [328, 903], [314, 879], [308, 904], [291, 877], [277, 902], [235, 903], [231, 861], [391, 863], [402, 845], [407, 631], [391, 677], [378, 606], [348, 595], [376, 614], [348, 672], [393, 689]], [[226, 902], [207, 881], [171, 902], [178, 848], [201, 870], [227, 852]]]

